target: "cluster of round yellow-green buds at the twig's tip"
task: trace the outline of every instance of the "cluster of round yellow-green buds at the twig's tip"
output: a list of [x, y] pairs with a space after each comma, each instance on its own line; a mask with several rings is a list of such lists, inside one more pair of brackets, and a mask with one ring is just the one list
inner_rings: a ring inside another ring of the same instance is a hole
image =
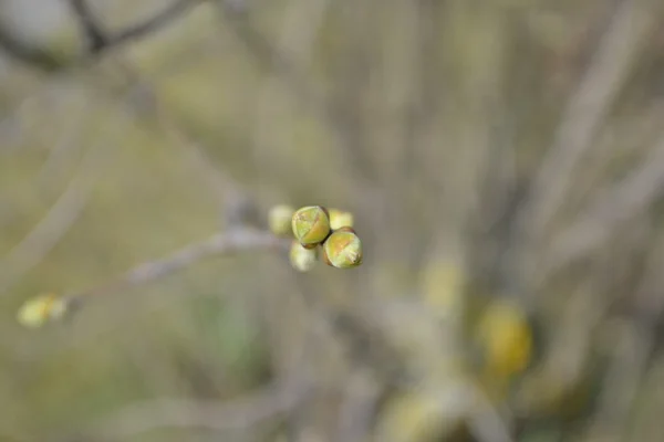
[[272, 233], [293, 235], [290, 250], [291, 265], [301, 272], [313, 269], [319, 256], [336, 269], [362, 264], [362, 242], [353, 230], [353, 214], [321, 206], [293, 209], [277, 206], [269, 214]]

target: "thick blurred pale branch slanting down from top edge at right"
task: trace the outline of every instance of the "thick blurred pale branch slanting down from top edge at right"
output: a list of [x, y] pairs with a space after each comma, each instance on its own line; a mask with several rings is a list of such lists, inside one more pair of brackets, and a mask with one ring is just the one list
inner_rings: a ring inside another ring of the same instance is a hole
[[[519, 220], [523, 241], [538, 244], [564, 201], [572, 173], [592, 148], [596, 130], [621, 91], [651, 24], [642, 2], [614, 1], [614, 12], [595, 53], [563, 110]], [[634, 23], [637, 23], [635, 25]], [[526, 245], [526, 248], [530, 248]]]

